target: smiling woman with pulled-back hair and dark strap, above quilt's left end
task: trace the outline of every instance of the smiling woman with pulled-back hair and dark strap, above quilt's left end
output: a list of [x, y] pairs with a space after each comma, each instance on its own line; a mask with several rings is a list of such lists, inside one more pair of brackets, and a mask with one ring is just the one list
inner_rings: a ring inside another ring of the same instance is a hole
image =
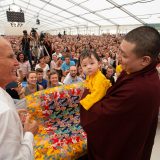
[[40, 91], [43, 86], [37, 84], [37, 75], [35, 71], [31, 71], [27, 75], [27, 86], [22, 88], [22, 92], [25, 96]]

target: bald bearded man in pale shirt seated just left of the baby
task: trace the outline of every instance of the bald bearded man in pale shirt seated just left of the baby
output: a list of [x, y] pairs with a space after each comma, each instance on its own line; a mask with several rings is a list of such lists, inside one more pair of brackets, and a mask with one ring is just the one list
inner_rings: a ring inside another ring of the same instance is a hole
[[69, 73], [65, 77], [63, 83], [72, 84], [72, 83], [78, 83], [78, 82], [83, 82], [83, 79], [77, 75], [77, 67], [71, 66], [69, 69]]

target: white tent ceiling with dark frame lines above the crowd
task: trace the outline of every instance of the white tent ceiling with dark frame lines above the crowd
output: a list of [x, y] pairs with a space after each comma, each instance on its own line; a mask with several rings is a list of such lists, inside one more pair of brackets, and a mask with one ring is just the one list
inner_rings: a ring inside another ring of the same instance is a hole
[[90, 26], [159, 23], [160, 0], [0, 0], [0, 23], [9, 9], [25, 14], [23, 27], [49, 31]]

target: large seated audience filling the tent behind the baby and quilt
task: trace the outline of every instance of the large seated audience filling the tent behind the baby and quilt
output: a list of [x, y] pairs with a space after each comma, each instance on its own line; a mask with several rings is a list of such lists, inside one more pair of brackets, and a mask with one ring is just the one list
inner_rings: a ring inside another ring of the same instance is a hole
[[[39, 38], [36, 43], [32, 42], [34, 37], [27, 36], [27, 38], [25, 36], [5, 37], [11, 42], [19, 61], [17, 81], [22, 85], [18, 86], [19, 89], [12, 88], [14, 92], [17, 90], [19, 98], [38, 90], [82, 82], [85, 74], [78, 59], [84, 50], [97, 52], [101, 59], [100, 70], [112, 85], [122, 71], [121, 60], [118, 57], [122, 35], [64, 35], [59, 37], [46, 34], [43, 40]], [[24, 46], [26, 44], [23, 44], [24, 39], [28, 42], [28, 52], [24, 50], [26, 48]]]

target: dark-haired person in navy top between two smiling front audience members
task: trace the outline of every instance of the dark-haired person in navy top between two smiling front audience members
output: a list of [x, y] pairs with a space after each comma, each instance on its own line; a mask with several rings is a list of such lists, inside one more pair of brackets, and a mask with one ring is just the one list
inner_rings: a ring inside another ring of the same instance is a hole
[[37, 74], [37, 84], [43, 86], [43, 88], [46, 89], [48, 82], [46, 79], [43, 78], [43, 69], [37, 68], [36, 74]]

